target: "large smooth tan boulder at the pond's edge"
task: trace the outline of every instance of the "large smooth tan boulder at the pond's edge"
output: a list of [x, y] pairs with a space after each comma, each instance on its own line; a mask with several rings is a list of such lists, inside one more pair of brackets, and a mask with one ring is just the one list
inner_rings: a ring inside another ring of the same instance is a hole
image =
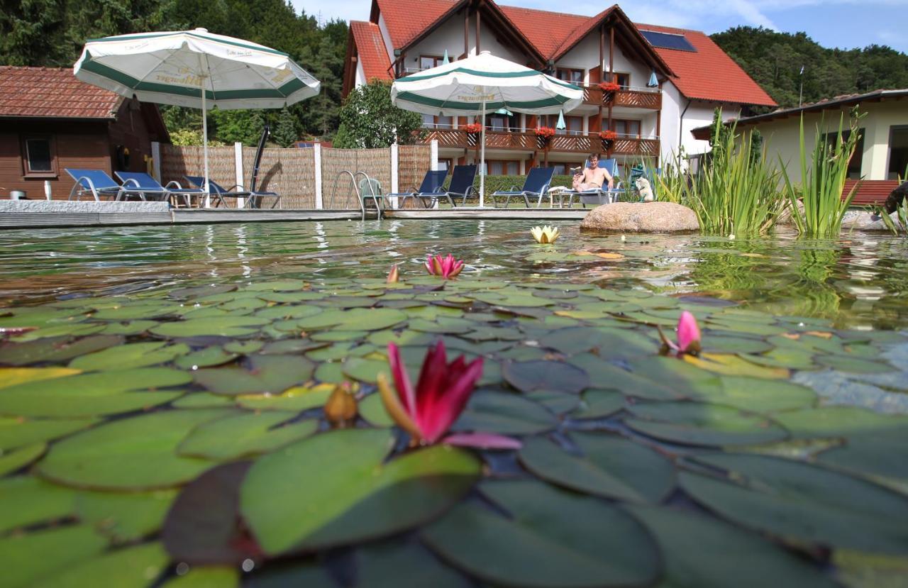
[[672, 202], [616, 202], [589, 211], [580, 230], [607, 232], [690, 232], [700, 230], [696, 213]]

